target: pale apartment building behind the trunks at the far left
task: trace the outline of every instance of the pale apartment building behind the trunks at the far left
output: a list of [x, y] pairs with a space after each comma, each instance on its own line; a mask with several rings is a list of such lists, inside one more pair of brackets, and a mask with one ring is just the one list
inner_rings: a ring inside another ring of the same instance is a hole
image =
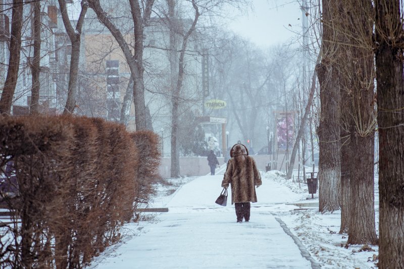
[[[23, 2], [22, 2], [23, 3]], [[9, 42], [12, 20], [12, 0], [0, 0], [2, 12], [0, 14], [0, 61], [4, 63], [0, 68], [0, 88], [3, 88], [7, 76], [9, 59]], [[23, 28], [20, 68], [15, 89], [12, 115], [29, 113], [31, 102], [31, 64], [33, 60], [33, 2], [23, 3]], [[57, 95], [57, 47], [58, 33], [63, 32], [63, 24], [58, 20], [58, 1], [41, 1], [41, 51], [40, 51], [40, 89], [39, 110], [41, 113], [56, 114], [63, 105]]]

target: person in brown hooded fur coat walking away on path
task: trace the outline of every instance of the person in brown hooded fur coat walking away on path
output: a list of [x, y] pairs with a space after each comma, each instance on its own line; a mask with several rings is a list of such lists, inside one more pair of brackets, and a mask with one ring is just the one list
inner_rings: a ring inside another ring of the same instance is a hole
[[254, 158], [248, 156], [248, 149], [243, 144], [235, 144], [230, 149], [230, 159], [227, 163], [222, 187], [231, 184], [231, 204], [236, 209], [237, 222], [243, 218], [246, 222], [250, 217], [250, 202], [257, 202], [257, 188], [262, 185], [261, 175]]

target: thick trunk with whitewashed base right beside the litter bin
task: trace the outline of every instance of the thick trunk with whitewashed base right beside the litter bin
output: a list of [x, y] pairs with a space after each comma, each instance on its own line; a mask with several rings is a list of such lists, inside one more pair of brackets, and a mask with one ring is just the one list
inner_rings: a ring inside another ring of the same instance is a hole
[[323, 36], [322, 36], [322, 59], [316, 67], [320, 83], [321, 114], [320, 125], [317, 129], [320, 143], [320, 162], [318, 179], [319, 188], [319, 211], [334, 211], [339, 209], [339, 188], [341, 179], [340, 170], [340, 84], [339, 72], [336, 68], [338, 56], [337, 39], [329, 22], [334, 20], [337, 3], [323, 0]]

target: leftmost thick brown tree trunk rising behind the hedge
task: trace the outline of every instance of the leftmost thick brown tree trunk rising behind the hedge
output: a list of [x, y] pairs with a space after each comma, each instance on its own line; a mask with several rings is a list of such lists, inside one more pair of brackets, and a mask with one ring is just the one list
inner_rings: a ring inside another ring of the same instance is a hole
[[14, 91], [17, 85], [18, 71], [20, 68], [23, 6], [24, 3], [21, 0], [13, 0], [13, 15], [11, 19], [10, 34], [10, 60], [2, 97], [0, 98], [0, 114], [10, 114]]

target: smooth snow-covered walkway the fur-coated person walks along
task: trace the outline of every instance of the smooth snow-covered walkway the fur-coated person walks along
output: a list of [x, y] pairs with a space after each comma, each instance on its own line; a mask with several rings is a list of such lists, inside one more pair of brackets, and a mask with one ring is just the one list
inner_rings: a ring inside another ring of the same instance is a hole
[[276, 200], [279, 195], [271, 192], [286, 190], [263, 182], [257, 190], [259, 202], [253, 204], [257, 207], [251, 207], [250, 222], [236, 223], [230, 197], [226, 207], [214, 203], [222, 189], [224, 169], [183, 185], [167, 203], [169, 212], [158, 215], [158, 222], [138, 227], [139, 236], [114, 247], [90, 267], [312, 268], [271, 214], [271, 204], [287, 202]]

